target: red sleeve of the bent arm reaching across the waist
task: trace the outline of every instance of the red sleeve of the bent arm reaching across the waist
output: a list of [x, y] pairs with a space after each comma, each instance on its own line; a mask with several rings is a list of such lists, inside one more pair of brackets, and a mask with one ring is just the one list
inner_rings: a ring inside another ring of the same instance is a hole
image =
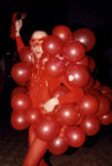
[[84, 92], [81, 87], [73, 87], [69, 85], [64, 76], [62, 76], [60, 80], [61, 80], [61, 83], [63, 83], [70, 90], [69, 93], [67, 93], [65, 95], [61, 95], [59, 97], [60, 104], [75, 103], [84, 95]]

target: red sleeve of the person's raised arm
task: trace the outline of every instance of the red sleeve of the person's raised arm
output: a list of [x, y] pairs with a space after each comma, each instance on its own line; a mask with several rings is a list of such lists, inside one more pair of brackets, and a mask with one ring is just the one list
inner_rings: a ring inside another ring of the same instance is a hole
[[17, 42], [18, 52], [20, 53], [21, 50], [24, 48], [24, 43], [20, 35], [16, 37], [16, 42]]

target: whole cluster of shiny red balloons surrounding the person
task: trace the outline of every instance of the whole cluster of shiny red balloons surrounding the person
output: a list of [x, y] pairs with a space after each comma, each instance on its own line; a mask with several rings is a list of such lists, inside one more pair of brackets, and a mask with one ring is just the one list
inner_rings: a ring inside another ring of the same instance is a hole
[[[20, 53], [21, 62], [12, 66], [12, 79], [20, 86], [11, 94], [11, 125], [21, 131], [34, 124], [35, 135], [48, 142], [52, 154], [63, 154], [69, 146], [82, 146], [85, 136], [93, 136], [101, 125], [112, 123], [112, 90], [91, 75], [95, 62], [86, 52], [94, 44], [95, 35], [90, 29], [72, 32], [65, 25], [57, 25], [43, 40], [44, 72], [54, 79], [64, 75], [72, 89], [81, 87], [84, 92], [77, 103], [64, 103], [44, 115], [31, 107], [29, 82], [37, 60], [29, 46]], [[60, 85], [50, 95], [59, 97], [69, 91]]]

